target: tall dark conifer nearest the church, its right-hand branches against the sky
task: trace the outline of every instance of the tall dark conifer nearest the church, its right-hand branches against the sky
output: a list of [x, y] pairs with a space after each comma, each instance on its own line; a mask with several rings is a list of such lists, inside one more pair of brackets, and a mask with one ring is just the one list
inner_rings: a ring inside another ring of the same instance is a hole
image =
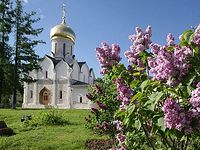
[[40, 18], [34, 19], [36, 12], [26, 13], [23, 11], [22, 1], [16, 0], [14, 10], [14, 30], [15, 30], [15, 54], [14, 54], [14, 89], [13, 89], [13, 108], [16, 108], [17, 91], [22, 91], [23, 82], [33, 82], [29, 72], [39, 69], [39, 56], [36, 55], [34, 48], [41, 40], [35, 39], [43, 28], [34, 29], [33, 24]]

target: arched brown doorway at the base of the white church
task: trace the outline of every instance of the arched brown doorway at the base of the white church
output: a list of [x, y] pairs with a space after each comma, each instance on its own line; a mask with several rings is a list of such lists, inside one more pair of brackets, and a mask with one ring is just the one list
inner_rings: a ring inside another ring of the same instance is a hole
[[40, 104], [48, 105], [49, 102], [50, 102], [50, 91], [46, 87], [44, 87], [40, 91]]

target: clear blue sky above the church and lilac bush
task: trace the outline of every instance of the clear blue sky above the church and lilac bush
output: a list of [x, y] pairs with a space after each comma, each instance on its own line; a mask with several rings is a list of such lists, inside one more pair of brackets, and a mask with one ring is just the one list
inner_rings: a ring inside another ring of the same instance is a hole
[[50, 29], [61, 22], [62, 4], [66, 4], [67, 22], [76, 33], [75, 55], [79, 61], [87, 61], [99, 76], [99, 63], [95, 48], [102, 41], [117, 43], [121, 47], [122, 62], [127, 64], [124, 52], [131, 42], [128, 36], [137, 26], [153, 29], [152, 41], [165, 44], [171, 32], [178, 42], [182, 31], [200, 23], [199, 0], [24, 0], [25, 10], [34, 10], [41, 20], [35, 25], [43, 27], [39, 36], [46, 42], [38, 45], [36, 53], [41, 57], [50, 54]]

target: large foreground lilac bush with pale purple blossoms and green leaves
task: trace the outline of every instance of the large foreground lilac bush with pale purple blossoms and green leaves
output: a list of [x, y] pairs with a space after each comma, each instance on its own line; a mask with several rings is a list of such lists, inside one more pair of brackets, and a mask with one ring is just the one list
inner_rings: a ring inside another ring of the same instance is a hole
[[200, 25], [184, 31], [179, 44], [171, 33], [164, 46], [151, 37], [150, 26], [129, 36], [128, 67], [119, 63], [118, 45], [96, 49], [102, 82], [112, 87], [104, 94], [90, 92], [96, 120], [112, 112], [97, 123], [107, 130], [112, 126], [115, 150], [199, 149]]

